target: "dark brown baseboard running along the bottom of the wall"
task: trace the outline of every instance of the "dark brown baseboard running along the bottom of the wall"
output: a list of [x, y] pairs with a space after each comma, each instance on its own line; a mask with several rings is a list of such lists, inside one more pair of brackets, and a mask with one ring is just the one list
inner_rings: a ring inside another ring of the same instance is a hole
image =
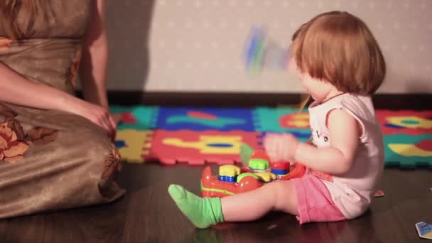
[[[299, 93], [235, 92], [136, 92], [109, 91], [110, 104], [163, 105], [193, 107], [256, 107], [295, 105], [302, 101]], [[432, 109], [432, 94], [377, 94], [376, 109]]]

